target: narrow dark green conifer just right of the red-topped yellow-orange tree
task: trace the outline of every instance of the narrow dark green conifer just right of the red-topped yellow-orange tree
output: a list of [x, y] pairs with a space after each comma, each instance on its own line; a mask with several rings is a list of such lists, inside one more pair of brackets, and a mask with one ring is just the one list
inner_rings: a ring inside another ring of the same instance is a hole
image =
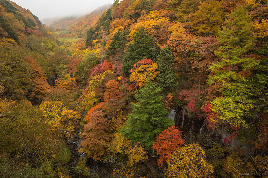
[[173, 70], [174, 59], [169, 46], [160, 51], [156, 62], [160, 71], [156, 76], [156, 81], [163, 91], [168, 92], [174, 87], [177, 76]]

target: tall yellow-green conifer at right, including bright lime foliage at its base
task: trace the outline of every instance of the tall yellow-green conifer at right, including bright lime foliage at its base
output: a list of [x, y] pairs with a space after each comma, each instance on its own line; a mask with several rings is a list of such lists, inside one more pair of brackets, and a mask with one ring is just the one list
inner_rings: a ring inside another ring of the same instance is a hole
[[215, 52], [222, 60], [210, 67], [211, 75], [208, 77], [208, 84], [220, 84], [219, 92], [222, 96], [212, 101], [211, 110], [216, 113], [216, 120], [222, 123], [247, 126], [245, 117], [251, 116], [250, 109], [254, 108], [254, 100], [250, 98], [250, 81], [243, 73], [259, 63], [246, 56], [255, 41], [250, 32], [252, 20], [244, 7], [239, 6], [225, 23], [218, 38], [222, 45]]

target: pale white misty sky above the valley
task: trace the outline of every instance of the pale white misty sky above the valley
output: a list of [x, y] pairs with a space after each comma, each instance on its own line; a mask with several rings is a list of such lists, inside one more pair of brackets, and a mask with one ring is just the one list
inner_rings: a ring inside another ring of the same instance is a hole
[[114, 0], [11, 0], [19, 6], [29, 9], [39, 19], [82, 15], [104, 4], [113, 4]]

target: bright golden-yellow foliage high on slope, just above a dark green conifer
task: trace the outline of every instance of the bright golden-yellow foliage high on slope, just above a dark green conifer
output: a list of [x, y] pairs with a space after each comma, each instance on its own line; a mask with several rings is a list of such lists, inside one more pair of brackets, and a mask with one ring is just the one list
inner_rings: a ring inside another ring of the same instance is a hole
[[144, 27], [144, 30], [147, 34], [153, 34], [155, 26], [163, 26], [163, 23], [168, 23], [169, 19], [161, 15], [157, 10], [151, 11], [143, 20], [140, 20], [132, 28], [130, 28], [129, 36], [133, 38], [135, 33], [141, 28]]

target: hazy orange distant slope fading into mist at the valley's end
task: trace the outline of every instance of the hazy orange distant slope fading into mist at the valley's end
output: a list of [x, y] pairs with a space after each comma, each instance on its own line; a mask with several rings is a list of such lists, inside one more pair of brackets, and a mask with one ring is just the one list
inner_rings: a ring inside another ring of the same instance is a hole
[[[60, 20], [56, 20], [47, 25], [52, 29], [67, 29], [71, 32], [74, 32], [75, 34], [83, 35], [85, 34], [85, 31], [87, 31], [91, 26], [94, 26], [94, 22], [98, 20], [101, 17], [102, 13], [111, 7], [111, 5], [112, 4], [105, 4], [83, 17], [61, 18]], [[46, 22], [46, 20], [44, 20], [44, 22]]]

